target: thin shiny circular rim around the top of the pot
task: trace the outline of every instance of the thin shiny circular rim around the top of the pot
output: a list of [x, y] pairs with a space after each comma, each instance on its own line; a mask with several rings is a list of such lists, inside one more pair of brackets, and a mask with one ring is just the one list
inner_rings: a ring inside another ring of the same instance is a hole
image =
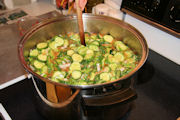
[[126, 80], [127, 78], [132, 76], [136, 71], [138, 71], [142, 67], [142, 65], [145, 63], [145, 61], [148, 57], [149, 49], [148, 49], [148, 45], [147, 45], [147, 42], [146, 42], [144, 36], [136, 28], [134, 28], [133, 26], [131, 26], [128, 23], [123, 22], [122, 20], [118, 20], [118, 19], [115, 19], [112, 17], [103, 16], [103, 15], [92, 15], [92, 14], [88, 14], [88, 13], [83, 14], [83, 19], [86, 19], [89, 17], [90, 17], [90, 19], [99, 19], [99, 20], [105, 19], [106, 21], [113, 22], [114, 24], [118, 24], [118, 25], [121, 24], [122, 28], [130, 31], [131, 33], [133, 33], [134, 36], [136, 36], [138, 38], [138, 40], [142, 46], [142, 56], [141, 56], [141, 59], [140, 59], [138, 65], [131, 72], [129, 72], [127, 75], [125, 75], [119, 79], [116, 79], [114, 81], [101, 83], [101, 84], [92, 84], [92, 85], [69, 85], [69, 84], [64, 84], [64, 83], [58, 83], [58, 82], [54, 82], [50, 79], [44, 78], [44, 77], [38, 75], [37, 73], [33, 72], [33, 70], [30, 68], [30, 66], [28, 64], [26, 64], [25, 57], [23, 55], [23, 48], [24, 48], [25, 41], [34, 32], [36, 32], [41, 27], [48, 25], [48, 24], [51, 24], [51, 23], [54, 23], [54, 22], [62, 21], [62, 20], [77, 19], [76, 15], [68, 15], [68, 16], [62, 15], [62, 16], [57, 17], [57, 18], [52, 18], [52, 19], [42, 21], [42, 22], [36, 24], [35, 26], [31, 27], [24, 34], [24, 36], [21, 38], [21, 40], [18, 43], [18, 56], [19, 56], [20, 62], [22, 64], [22, 66], [24, 67], [24, 69], [28, 73], [34, 75], [36, 78], [43, 80], [44, 82], [49, 82], [49, 83], [52, 83], [52, 84], [57, 85], [57, 86], [64, 86], [64, 87], [71, 87], [71, 88], [78, 88], [78, 89], [86, 89], [86, 88], [95, 88], [95, 87], [100, 87], [100, 86], [106, 86], [106, 85], [117, 83], [120, 80]]

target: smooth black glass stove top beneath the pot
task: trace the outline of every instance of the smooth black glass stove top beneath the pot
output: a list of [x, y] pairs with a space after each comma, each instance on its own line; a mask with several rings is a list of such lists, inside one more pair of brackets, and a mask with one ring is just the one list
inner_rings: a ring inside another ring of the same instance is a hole
[[[150, 50], [137, 73], [137, 99], [123, 120], [175, 120], [180, 116], [180, 66]], [[31, 80], [0, 91], [0, 101], [12, 120], [45, 120], [33, 103]], [[3, 96], [3, 97], [2, 97]]]

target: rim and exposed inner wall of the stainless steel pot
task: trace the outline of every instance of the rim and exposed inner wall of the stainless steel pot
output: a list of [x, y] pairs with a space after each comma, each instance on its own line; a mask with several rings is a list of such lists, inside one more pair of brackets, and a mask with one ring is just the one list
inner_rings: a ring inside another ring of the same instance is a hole
[[123, 39], [123, 41], [129, 45], [140, 57], [141, 60], [137, 67], [129, 74], [121, 77], [118, 80], [95, 85], [66, 85], [62, 83], [53, 82], [49, 79], [43, 78], [31, 70], [26, 63], [27, 56], [30, 49], [35, 47], [39, 42], [46, 41], [55, 35], [66, 34], [68, 32], [78, 32], [77, 17], [74, 16], [61, 16], [55, 19], [46, 20], [30, 29], [19, 42], [19, 58], [24, 68], [35, 75], [37, 78], [45, 82], [51, 82], [55, 85], [70, 86], [74, 88], [92, 88], [102, 85], [108, 85], [118, 82], [119, 80], [128, 79], [133, 75], [145, 62], [148, 55], [148, 46], [144, 37], [134, 27], [129, 24], [113, 19], [111, 17], [97, 16], [92, 14], [83, 14], [84, 30], [91, 33], [110, 33], [116, 39]]

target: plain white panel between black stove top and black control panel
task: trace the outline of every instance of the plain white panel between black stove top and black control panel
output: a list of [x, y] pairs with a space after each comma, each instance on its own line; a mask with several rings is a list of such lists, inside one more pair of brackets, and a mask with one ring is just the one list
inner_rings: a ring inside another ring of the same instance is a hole
[[147, 40], [150, 49], [180, 65], [180, 39], [130, 15], [125, 22], [137, 28]]

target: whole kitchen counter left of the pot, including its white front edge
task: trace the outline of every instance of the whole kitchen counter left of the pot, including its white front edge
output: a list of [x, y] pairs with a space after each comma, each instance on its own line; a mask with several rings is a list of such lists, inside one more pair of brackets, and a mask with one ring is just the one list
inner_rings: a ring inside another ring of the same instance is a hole
[[[37, 23], [37, 21], [61, 14], [54, 6], [45, 2], [21, 6], [20, 9], [28, 14], [22, 17], [23, 20], [19, 24], [25, 30]], [[0, 90], [27, 78], [27, 72], [24, 71], [18, 58], [17, 45], [21, 39], [19, 26], [17, 25], [18, 20], [0, 26]]]

